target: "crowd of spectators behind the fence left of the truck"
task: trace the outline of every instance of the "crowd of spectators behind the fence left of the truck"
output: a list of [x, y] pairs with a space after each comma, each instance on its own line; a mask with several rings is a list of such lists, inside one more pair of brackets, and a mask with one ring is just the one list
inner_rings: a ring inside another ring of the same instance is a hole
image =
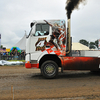
[[25, 60], [25, 51], [0, 52], [0, 60]]

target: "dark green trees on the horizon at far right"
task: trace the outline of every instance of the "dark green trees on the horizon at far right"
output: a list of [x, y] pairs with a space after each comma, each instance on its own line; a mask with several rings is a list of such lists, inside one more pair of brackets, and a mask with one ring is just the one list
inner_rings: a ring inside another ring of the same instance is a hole
[[96, 40], [94, 42], [89, 42], [87, 40], [81, 39], [79, 40], [79, 43], [88, 46], [90, 49], [98, 49], [99, 41]]

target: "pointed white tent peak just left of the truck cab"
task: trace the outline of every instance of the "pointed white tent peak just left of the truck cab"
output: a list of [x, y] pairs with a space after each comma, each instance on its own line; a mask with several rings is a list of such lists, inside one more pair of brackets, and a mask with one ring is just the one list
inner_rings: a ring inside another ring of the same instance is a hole
[[23, 38], [17, 42], [13, 47], [19, 47], [21, 50], [25, 50], [26, 48], [26, 33]]

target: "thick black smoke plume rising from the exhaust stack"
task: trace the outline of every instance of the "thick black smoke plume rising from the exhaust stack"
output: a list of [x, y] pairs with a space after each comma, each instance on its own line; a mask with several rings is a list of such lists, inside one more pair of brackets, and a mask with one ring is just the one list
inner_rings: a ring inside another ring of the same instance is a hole
[[71, 13], [74, 9], [78, 9], [80, 3], [84, 3], [86, 0], [67, 0], [65, 9], [67, 10], [67, 17], [70, 19]]

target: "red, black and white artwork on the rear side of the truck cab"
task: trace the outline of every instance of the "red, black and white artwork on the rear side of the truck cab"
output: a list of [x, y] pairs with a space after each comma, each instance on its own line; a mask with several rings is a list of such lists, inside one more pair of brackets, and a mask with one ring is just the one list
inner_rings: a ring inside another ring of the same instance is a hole
[[66, 25], [64, 20], [46, 21], [52, 27], [50, 40], [46, 43], [46, 48], [42, 52], [47, 54], [56, 54], [58, 56], [66, 55]]

